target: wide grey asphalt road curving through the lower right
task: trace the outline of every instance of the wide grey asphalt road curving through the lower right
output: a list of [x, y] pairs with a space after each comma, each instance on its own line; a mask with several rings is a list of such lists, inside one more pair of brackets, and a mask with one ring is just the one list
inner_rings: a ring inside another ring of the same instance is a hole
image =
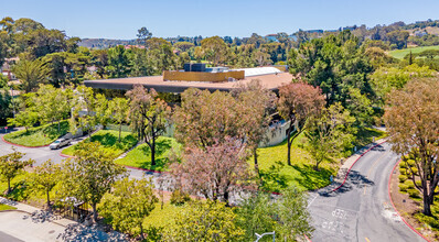
[[309, 209], [320, 241], [424, 241], [397, 216], [388, 177], [398, 156], [384, 143], [360, 158], [336, 191], [310, 194]]

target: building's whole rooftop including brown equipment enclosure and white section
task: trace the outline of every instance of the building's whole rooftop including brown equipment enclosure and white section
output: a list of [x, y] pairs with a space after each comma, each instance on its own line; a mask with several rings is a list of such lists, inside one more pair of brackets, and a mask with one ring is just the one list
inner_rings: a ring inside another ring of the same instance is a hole
[[246, 84], [251, 79], [259, 79], [265, 88], [277, 91], [281, 85], [292, 80], [291, 74], [276, 67], [228, 69], [206, 68], [205, 64], [185, 67], [185, 70], [164, 70], [162, 76], [85, 80], [84, 85], [95, 89], [130, 90], [133, 85], [141, 84], [159, 92], [181, 94], [188, 88], [229, 91], [237, 88], [238, 84]]

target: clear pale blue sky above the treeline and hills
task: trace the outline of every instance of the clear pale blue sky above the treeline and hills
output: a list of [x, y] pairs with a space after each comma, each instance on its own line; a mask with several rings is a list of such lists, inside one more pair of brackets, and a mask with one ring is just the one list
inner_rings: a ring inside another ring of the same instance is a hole
[[1, 0], [0, 16], [30, 18], [68, 36], [250, 36], [439, 19], [438, 0]]

